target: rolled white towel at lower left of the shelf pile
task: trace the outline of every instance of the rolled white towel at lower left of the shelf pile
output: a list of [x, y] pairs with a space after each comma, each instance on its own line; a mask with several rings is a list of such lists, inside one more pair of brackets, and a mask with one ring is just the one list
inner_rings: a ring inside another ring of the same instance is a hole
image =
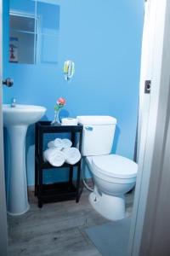
[[48, 148], [43, 152], [43, 160], [59, 167], [65, 163], [65, 154], [59, 148]]

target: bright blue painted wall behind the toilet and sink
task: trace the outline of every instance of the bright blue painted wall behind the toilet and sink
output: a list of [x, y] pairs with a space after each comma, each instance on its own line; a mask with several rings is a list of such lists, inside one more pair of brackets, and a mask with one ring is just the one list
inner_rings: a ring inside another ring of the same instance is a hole
[[[13, 88], [4, 88], [4, 102], [15, 96], [18, 103], [45, 106], [47, 118], [53, 119], [54, 103], [64, 96], [64, 115], [112, 115], [118, 122], [113, 151], [133, 159], [144, 1], [56, 1], [60, 22], [55, 65], [8, 63], [8, 1], [3, 2], [3, 76], [14, 79]], [[67, 84], [62, 68], [69, 59], [75, 62], [76, 73]], [[32, 129], [27, 141], [28, 183], [33, 184]], [[53, 177], [46, 178], [49, 181]]]

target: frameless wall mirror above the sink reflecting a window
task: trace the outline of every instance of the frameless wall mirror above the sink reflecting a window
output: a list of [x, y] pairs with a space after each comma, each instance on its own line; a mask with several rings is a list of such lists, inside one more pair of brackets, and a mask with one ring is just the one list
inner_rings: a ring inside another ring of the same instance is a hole
[[59, 5], [55, 0], [9, 0], [9, 57], [12, 63], [57, 64]]

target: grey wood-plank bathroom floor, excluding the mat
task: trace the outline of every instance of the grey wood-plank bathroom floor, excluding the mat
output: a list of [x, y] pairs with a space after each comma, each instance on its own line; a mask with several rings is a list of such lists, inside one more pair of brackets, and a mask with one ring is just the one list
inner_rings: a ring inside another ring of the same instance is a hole
[[[31, 192], [31, 208], [20, 217], [8, 216], [9, 256], [99, 256], [85, 229], [107, 223], [88, 202], [84, 190], [78, 204], [65, 201], [39, 209]], [[133, 193], [127, 194], [127, 216], [131, 215]]]

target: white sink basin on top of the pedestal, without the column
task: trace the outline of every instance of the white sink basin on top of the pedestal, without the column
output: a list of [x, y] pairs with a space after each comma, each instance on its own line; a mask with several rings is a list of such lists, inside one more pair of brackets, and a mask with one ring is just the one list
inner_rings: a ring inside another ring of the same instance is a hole
[[33, 105], [20, 105], [11, 108], [10, 105], [3, 105], [3, 124], [9, 125], [31, 125], [42, 118], [46, 108]]

